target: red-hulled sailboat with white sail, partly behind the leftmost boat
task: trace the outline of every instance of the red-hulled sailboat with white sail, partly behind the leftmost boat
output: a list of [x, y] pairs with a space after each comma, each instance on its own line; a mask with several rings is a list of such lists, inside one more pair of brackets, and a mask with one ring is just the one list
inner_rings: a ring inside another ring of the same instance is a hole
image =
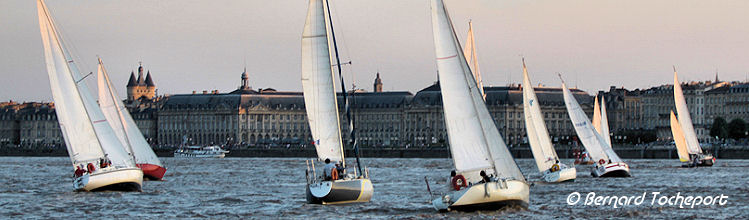
[[143, 170], [143, 177], [160, 180], [164, 177], [166, 168], [161, 165], [161, 161], [143, 137], [133, 117], [130, 116], [130, 113], [120, 101], [121, 99], [117, 98], [117, 93], [109, 80], [109, 74], [107, 74], [101, 59], [99, 59], [98, 66], [99, 106], [104, 112], [104, 116], [114, 129], [117, 138], [125, 145], [125, 150], [133, 156], [135, 166]]

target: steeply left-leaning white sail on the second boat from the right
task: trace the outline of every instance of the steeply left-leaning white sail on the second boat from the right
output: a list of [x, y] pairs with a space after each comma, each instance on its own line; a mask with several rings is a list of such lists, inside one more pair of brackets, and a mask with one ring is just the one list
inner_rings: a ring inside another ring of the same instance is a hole
[[567, 113], [570, 115], [570, 121], [572, 121], [572, 125], [575, 127], [577, 137], [588, 151], [588, 155], [590, 155], [590, 157], [596, 162], [601, 159], [608, 161], [609, 156], [604, 148], [606, 142], [601, 138], [598, 132], [595, 131], [595, 128], [593, 128], [590, 120], [588, 120], [585, 111], [583, 111], [580, 104], [577, 103], [577, 100], [564, 82], [562, 82], [562, 92], [564, 93], [564, 104], [567, 106]]

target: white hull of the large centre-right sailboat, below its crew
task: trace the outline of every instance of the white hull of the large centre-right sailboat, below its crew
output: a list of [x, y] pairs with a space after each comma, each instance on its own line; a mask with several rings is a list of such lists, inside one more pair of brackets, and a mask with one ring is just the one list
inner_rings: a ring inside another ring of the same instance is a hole
[[524, 181], [480, 183], [432, 201], [438, 211], [497, 210], [506, 206], [528, 207], [530, 186]]

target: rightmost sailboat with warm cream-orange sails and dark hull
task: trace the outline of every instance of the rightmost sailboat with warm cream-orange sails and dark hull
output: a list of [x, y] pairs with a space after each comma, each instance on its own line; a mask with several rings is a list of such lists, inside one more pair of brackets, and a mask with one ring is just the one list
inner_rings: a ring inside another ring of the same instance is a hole
[[[678, 114], [674, 123], [671, 121], [671, 132], [674, 136], [674, 143], [676, 148], [679, 149], [679, 143], [682, 143], [682, 148], [686, 148], [688, 160], [684, 164], [685, 167], [694, 166], [712, 166], [715, 162], [715, 157], [712, 154], [703, 153], [700, 142], [697, 140], [697, 134], [694, 132], [694, 126], [692, 125], [692, 117], [689, 115], [689, 109], [687, 109], [687, 101], [684, 99], [684, 93], [681, 90], [681, 84], [679, 84], [679, 78], [676, 73], [676, 67], [674, 67], [674, 102], [676, 103], [676, 113]], [[673, 112], [671, 112], [673, 114]], [[680, 152], [677, 151], [677, 152]], [[682, 158], [681, 152], [679, 157]], [[683, 159], [682, 159], [682, 162]]]

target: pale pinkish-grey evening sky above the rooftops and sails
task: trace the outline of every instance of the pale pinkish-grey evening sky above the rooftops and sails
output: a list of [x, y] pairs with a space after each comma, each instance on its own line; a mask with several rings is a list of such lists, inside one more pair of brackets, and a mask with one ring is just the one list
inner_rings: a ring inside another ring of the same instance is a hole
[[[332, 0], [349, 88], [413, 93], [437, 80], [429, 0]], [[484, 85], [534, 84], [593, 93], [610, 86], [744, 81], [745, 0], [445, 0], [461, 41], [473, 22]], [[247, 67], [253, 88], [301, 91], [306, 0], [47, 0], [82, 71], [102, 58], [124, 97], [138, 63], [159, 94], [230, 92]], [[36, 2], [0, 1], [0, 101], [52, 101]], [[95, 78], [87, 79], [95, 88]]]

